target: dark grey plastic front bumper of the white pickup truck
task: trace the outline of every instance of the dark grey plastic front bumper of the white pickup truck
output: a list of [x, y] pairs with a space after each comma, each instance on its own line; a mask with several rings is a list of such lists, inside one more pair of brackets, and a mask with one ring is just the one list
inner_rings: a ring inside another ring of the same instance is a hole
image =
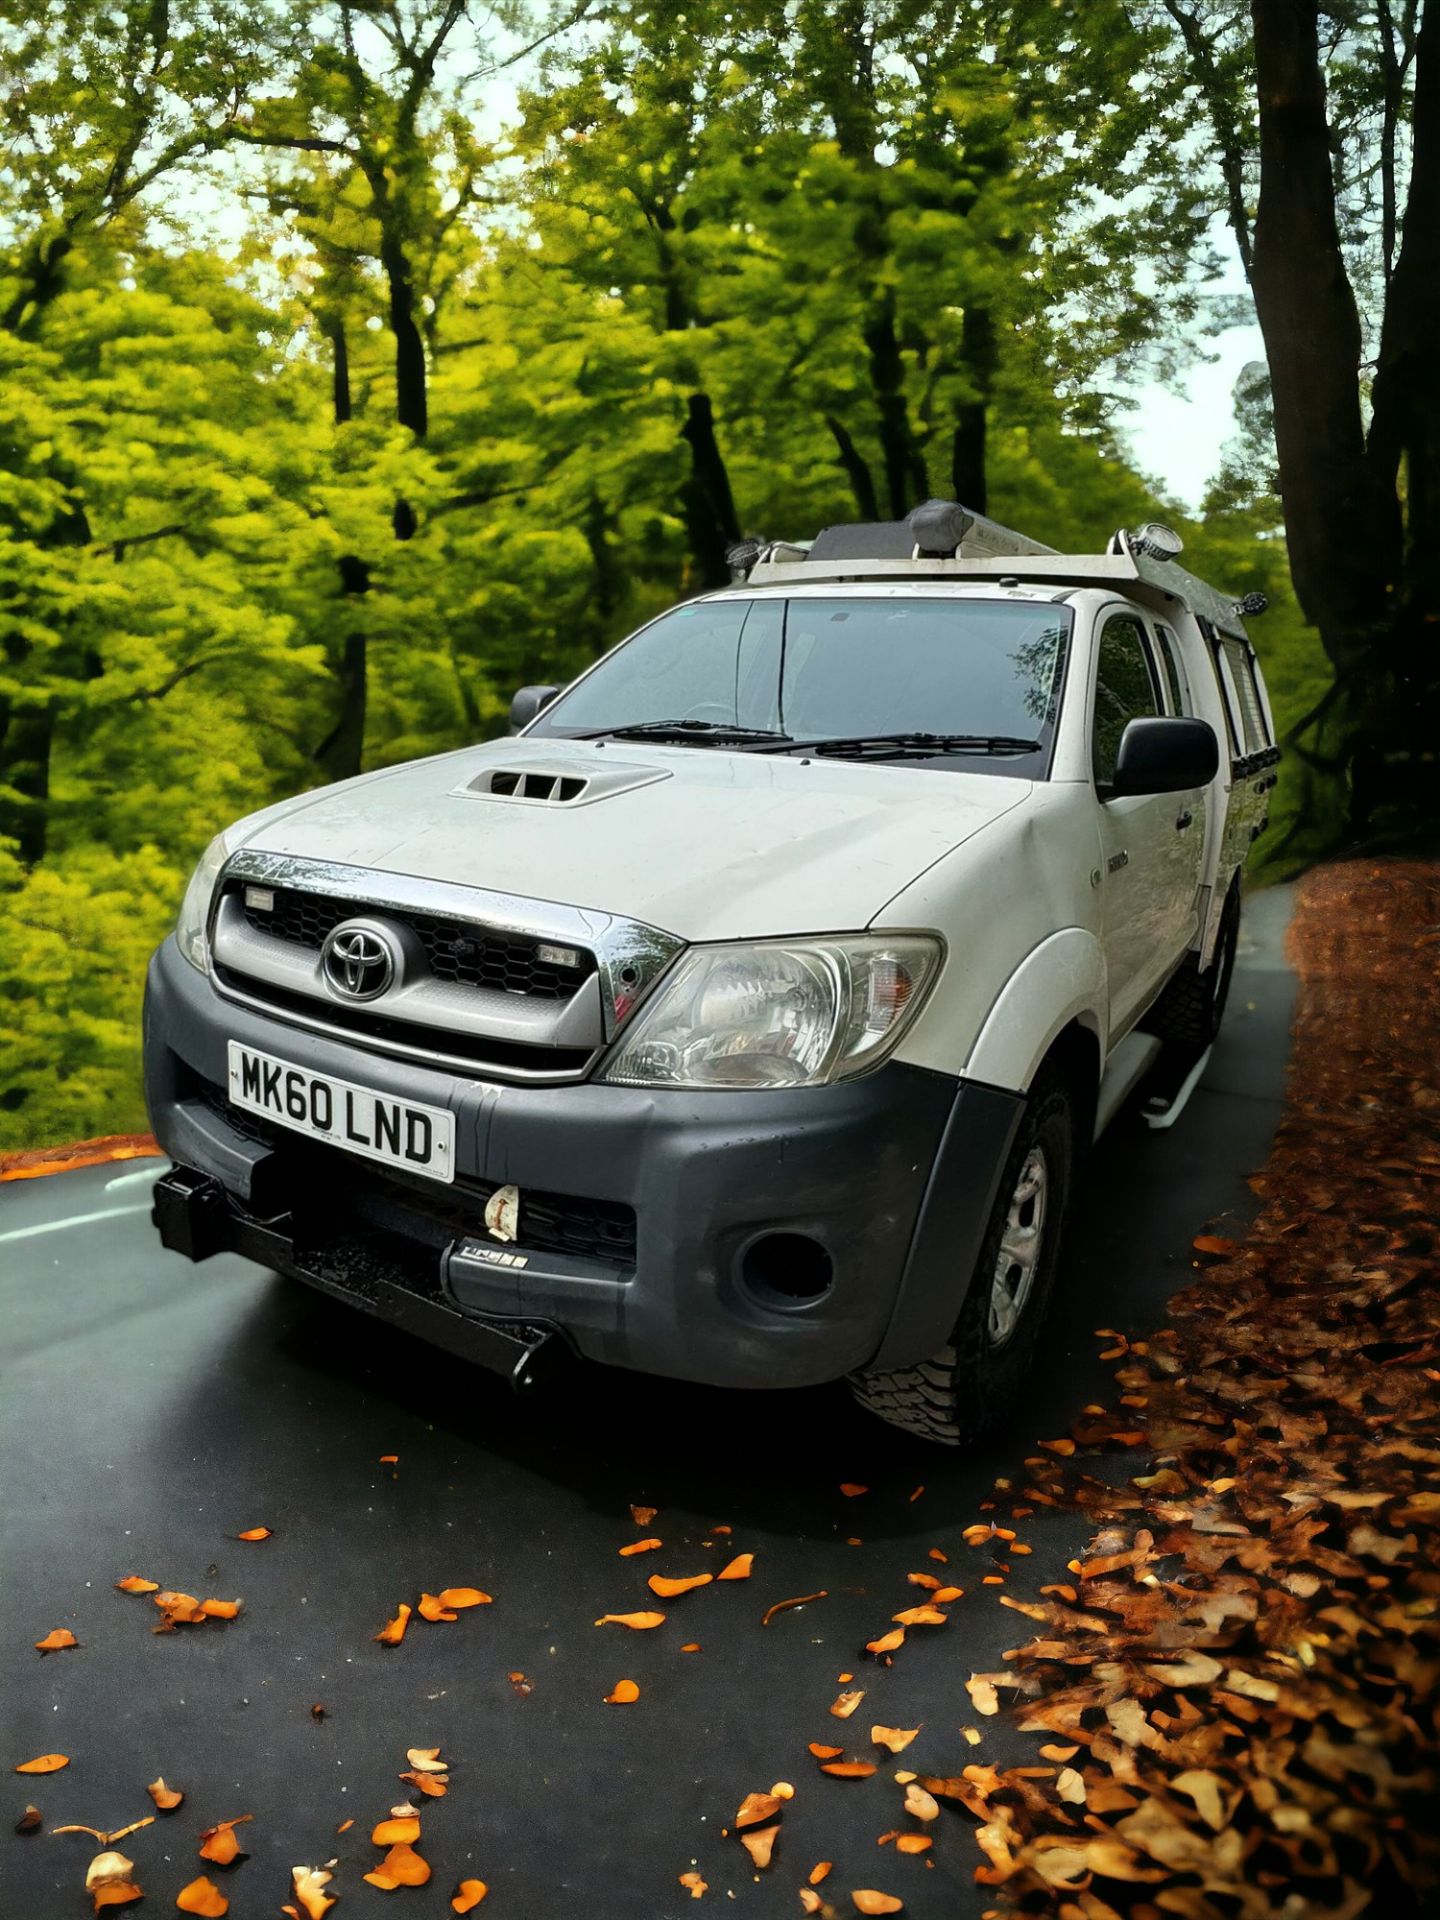
[[[455, 1185], [390, 1181], [234, 1116], [230, 1039], [449, 1108]], [[173, 941], [150, 968], [146, 1092], [165, 1152], [225, 1188], [204, 1213], [217, 1244], [505, 1371], [526, 1329], [559, 1329], [591, 1359], [720, 1386], [814, 1384], [941, 1346], [1021, 1106], [899, 1064], [795, 1092], [501, 1087], [232, 1006]], [[505, 1183], [522, 1194], [515, 1248], [484, 1227]], [[526, 1236], [532, 1192], [543, 1244]], [[753, 1254], [766, 1235], [814, 1242], [824, 1290], [770, 1288]], [[493, 1356], [476, 1350], [486, 1329]]]

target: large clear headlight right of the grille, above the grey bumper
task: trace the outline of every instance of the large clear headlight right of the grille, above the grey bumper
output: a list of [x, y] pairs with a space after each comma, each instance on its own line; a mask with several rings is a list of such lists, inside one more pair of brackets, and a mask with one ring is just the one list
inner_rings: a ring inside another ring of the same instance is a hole
[[695, 947], [601, 1069], [628, 1087], [820, 1087], [877, 1066], [941, 964], [924, 933]]

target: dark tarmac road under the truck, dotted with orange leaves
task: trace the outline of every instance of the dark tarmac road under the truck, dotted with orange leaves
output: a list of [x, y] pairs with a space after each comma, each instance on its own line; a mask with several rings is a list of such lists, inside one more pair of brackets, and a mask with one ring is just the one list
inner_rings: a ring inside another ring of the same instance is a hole
[[[522, 1405], [240, 1260], [192, 1267], [161, 1252], [148, 1221], [156, 1164], [0, 1187], [6, 1920], [86, 1914], [96, 1849], [48, 1828], [140, 1818], [157, 1774], [186, 1801], [121, 1843], [142, 1912], [171, 1912], [202, 1870], [202, 1828], [252, 1812], [250, 1859], [211, 1870], [236, 1920], [276, 1914], [290, 1868], [334, 1855], [336, 1920], [392, 1899], [403, 1914], [447, 1914], [465, 1876], [490, 1884], [495, 1920], [678, 1920], [695, 1910], [678, 1885], [691, 1866], [724, 1910], [789, 1916], [818, 1860], [835, 1862], [824, 1893], [843, 1914], [852, 1887], [902, 1897], [910, 1920], [979, 1914], [993, 1891], [973, 1885], [964, 1812], [943, 1809], [929, 1855], [876, 1847], [912, 1824], [895, 1766], [1035, 1759], [1002, 1720], [977, 1720], [964, 1692], [1027, 1622], [979, 1584], [960, 1528], [996, 1473], [1104, 1394], [1092, 1329], [1158, 1325], [1190, 1273], [1192, 1236], [1254, 1212], [1246, 1177], [1279, 1119], [1288, 1046], [1286, 920], [1284, 889], [1248, 904], [1227, 1029], [1181, 1121], [1150, 1133], [1121, 1116], [1096, 1152], [1033, 1390], [983, 1450], [908, 1442], [843, 1386], [741, 1396], [589, 1371]], [[868, 1492], [845, 1498], [841, 1480]], [[632, 1501], [657, 1519], [637, 1528]], [[275, 1536], [232, 1538], [257, 1524]], [[618, 1557], [641, 1534], [664, 1549]], [[1087, 1526], [1037, 1515], [1025, 1538], [1016, 1594], [1062, 1576]], [[950, 1555], [966, 1597], [945, 1630], [914, 1632], [877, 1670], [860, 1644], [908, 1603], [904, 1574], [933, 1567], [929, 1548]], [[745, 1584], [670, 1603], [645, 1590], [653, 1571], [718, 1571], [739, 1551], [756, 1555]], [[131, 1572], [246, 1607], [227, 1626], [156, 1636], [148, 1599], [113, 1590]], [[397, 1601], [447, 1584], [480, 1586], [493, 1605], [453, 1624], [417, 1619], [394, 1649], [374, 1644]], [[760, 1626], [770, 1601], [820, 1588], [826, 1599]], [[645, 1605], [670, 1615], [657, 1632], [591, 1624]], [[56, 1626], [81, 1649], [33, 1653]], [[689, 1642], [703, 1651], [682, 1653]], [[841, 1672], [866, 1688], [852, 1720], [826, 1711]], [[639, 1701], [605, 1705], [622, 1676]], [[924, 1730], [889, 1763], [870, 1749], [872, 1720]], [[979, 1747], [962, 1743], [964, 1724], [981, 1726]], [[824, 1778], [806, 1741], [887, 1764], [870, 1780]], [[405, 1749], [434, 1745], [455, 1768], [424, 1812], [434, 1880], [382, 1893], [361, 1882], [378, 1860], [369, 1828], [405, 1795]], [[71, 1764], [8, 1772], [50, 1751]], [[755, 1876], [720, 1830], [776, 1780], [797, 1793], [776, 1864]], [[27, 1801], [46, 1832], [15, 1837]]]

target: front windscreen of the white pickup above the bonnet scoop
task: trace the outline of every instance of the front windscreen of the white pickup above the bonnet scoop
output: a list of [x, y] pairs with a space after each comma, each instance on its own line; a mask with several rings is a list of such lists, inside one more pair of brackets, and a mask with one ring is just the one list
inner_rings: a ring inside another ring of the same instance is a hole
[[693, 601], [641, 628], [534, 733], [714, 722], [806, 739], [973, 733], [1044, 741], [1069, 609], [889, 599]]

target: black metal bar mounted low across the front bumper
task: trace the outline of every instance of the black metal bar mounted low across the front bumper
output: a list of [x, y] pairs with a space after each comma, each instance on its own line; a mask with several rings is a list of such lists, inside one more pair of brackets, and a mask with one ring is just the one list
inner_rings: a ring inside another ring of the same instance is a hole
[[217, 1179], [194, 1167], [171, 1167], [156, 1181], [150, 1217], [161, 1246], [184, 1254], [186, 1260], [242, 1254], [261, 1267], [286, 1273], [403, 1332], [413, 1332], [447, 1354], [505, 1375], [516, 1392], [534, 1386], [568, 1361], [568, 1350], [553, 1327], [461, 1311], [442, 1292], [440, 1277], [449, 1248], [436, 1254], [434, 1292], [419, 1292], [386, 1277], [384, 1271], [376, 1271], [374, 1261], [367, 1261], [363, 1288], [346, 1284], [344, 1261], [336, 1261], [330, 1269], [296, 1254], [294, 1223], [288, 1213], [265, 1221], [253, 1219], [236, 1208]]

